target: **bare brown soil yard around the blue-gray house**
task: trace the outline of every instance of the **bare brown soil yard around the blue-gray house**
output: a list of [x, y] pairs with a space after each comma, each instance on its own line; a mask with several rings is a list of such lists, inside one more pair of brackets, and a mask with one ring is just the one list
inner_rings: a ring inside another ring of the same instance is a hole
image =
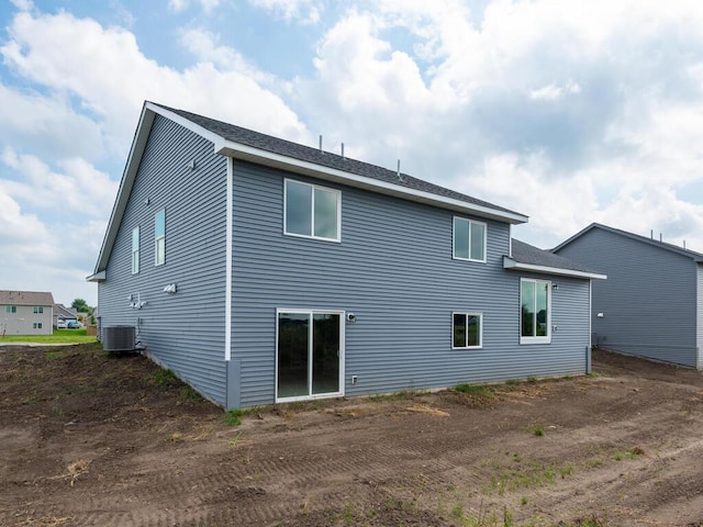
[[0, 348], [3, 526], [703, 527], [703, 375], [225, 414], [140, 356]]

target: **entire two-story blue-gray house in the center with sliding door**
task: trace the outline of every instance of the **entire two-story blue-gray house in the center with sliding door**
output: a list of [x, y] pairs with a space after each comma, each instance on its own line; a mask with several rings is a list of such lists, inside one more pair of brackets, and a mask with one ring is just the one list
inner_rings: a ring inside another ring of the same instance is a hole
[[89, 280], [103, 334], [226, 408], [584, 373], [604, 277], [512, 244], [526, 221], [147, 102]]

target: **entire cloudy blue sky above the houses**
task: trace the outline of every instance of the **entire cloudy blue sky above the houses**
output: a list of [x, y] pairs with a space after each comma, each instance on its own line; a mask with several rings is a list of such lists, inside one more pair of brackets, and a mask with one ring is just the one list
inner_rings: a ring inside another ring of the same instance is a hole
[[0, 289], [97, 303], [144, 100], [703, 251], [703, 2], [10, 0]]

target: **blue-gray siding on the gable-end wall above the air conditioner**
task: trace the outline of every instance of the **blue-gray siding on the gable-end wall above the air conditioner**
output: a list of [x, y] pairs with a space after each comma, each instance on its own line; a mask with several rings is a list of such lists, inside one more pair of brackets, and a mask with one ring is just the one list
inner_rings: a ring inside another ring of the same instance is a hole
[[[166, 262], [155, 267], [154, 216], [161, 209]], [[136, 326], [152, 358], [219, 404], [226, 391], [225, 221], [225, 158], [213, 154], [212, 143], [157, 116], [99, 284], [101, 327]], [[132, 274], [137, 225], [141, 271]], [[166, 294], [171, 283], [177, 293]], [[146, 302], [141, 310], [130, 307], [129, 295], [137, 293]]]

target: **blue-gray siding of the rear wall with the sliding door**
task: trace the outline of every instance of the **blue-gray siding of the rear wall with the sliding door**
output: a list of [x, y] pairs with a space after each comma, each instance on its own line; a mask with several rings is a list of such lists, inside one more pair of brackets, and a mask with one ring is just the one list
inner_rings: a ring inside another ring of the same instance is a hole
[[[233, 401], [274, 402], [277, 309], [356, 315], [346, 324], [347, 395], [585, 371], [588, 280], [555, 279], [551, 344], [520, 345], [525, 274], [502, 267], [507, 224], [487, 222], [487, 264], [454, 260], [450, 211], [289, 176], [342, 191], [342, 242], [284, 236], [284, 177], [234, 161]], [[451, 349], [451, 312], [483, 313], [482, 349]]]

